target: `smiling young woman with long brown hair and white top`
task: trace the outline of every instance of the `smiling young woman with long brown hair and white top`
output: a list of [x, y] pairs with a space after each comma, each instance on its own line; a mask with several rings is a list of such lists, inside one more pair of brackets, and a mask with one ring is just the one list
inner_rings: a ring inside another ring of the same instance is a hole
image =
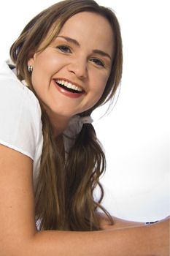
[[90, 114], [120, 83], [115, 14], [61, 1], [10, 55], [0, 74], [0, 255], [168, 255], [169, 220], [120, 222], [101, 206], [105, 157]]

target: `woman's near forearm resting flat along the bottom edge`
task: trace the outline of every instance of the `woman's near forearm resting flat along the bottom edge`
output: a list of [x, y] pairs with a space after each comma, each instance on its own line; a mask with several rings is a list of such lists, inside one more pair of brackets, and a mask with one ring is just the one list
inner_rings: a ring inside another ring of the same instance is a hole
[[154, 226], [94, 232], [42, 231], [36, 233], [24, 255], [168, 256], [168, 249], [159, 254], [161, 249], [155, 244], [157, 236]]

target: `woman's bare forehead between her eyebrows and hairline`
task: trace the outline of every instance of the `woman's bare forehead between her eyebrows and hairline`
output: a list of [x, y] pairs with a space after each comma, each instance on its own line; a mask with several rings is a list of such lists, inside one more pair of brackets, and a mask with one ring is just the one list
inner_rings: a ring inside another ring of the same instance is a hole
[[114, 51], [114, 31], [107, 18], [95, 12], [79, 12], [66, 20], [59, 35], [71, 37], [80, 45]]

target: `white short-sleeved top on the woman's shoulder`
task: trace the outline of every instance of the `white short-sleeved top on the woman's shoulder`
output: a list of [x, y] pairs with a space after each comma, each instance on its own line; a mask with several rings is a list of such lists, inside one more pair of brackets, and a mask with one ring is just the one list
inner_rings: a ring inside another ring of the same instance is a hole
[[41, 108], [7, 62], [0, 69], [0, 143], [34, 161], [34, 186], [42, 155]]

